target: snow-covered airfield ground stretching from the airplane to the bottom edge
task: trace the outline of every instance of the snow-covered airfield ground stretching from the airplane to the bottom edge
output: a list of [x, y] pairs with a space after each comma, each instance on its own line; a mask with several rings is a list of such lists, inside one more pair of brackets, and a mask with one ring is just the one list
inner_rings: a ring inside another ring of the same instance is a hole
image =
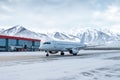
[[78, 56], [67, 53], [49, 57], [44, 52], [20, 53], [0, 54], [4, 58], [24, 57], [0, 60], [0, 80], [120, 80], [120, 51], [80, 51]]

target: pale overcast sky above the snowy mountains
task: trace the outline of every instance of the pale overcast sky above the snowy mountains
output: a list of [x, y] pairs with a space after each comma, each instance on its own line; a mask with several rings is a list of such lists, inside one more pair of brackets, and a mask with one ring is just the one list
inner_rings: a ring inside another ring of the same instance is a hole
[[0, 26], [36, 32], [120, 29], [120, 0], [0, 0]]

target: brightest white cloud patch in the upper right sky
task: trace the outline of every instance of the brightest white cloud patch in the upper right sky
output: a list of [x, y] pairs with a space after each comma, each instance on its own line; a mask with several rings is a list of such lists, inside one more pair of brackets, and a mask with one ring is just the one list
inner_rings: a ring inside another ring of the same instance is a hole
[[96, 11], [94, 17], [109, 24], [117, 24], [120, 21], [120, 7], [109, 5], [105, 11]]

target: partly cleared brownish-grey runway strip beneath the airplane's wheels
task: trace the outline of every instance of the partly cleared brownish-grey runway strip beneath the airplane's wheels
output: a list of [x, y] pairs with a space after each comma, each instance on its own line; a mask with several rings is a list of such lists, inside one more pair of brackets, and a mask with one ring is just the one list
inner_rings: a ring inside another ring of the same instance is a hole
[[50, 54], [46, 57], [45, 52], [1, 52], [0, 61], [15, 61], [15, 60], [29, 60], [29, 59], [49, 59], [49, 58], [82, 58], [82, 57], [95, 57], [100, 55], [109, 55], [112, 53], [119, 53], [120, 50], [81, 50], [78, 55], [73, 56], [65, 52], [64, 56], [60, 53]]

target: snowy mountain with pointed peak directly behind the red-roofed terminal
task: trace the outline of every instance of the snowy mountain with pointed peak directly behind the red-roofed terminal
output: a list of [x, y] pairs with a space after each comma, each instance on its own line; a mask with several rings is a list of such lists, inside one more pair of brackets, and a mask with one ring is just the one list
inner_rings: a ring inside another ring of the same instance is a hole
[[16, 25], [12, 28], [3, 30], [0, 32], [0, 34], [10, 35], [10, 36], [18, 36], [18, 37], [35, 38], [35, 39], [49, 39], [46, 34], [30, 31], [20, 25]]

